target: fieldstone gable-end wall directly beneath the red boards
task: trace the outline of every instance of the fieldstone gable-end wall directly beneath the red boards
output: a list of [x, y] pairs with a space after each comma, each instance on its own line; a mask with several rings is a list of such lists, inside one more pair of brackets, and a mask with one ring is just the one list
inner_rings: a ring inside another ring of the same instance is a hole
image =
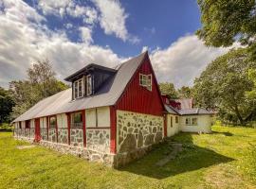
[[137, 112], [117, 111], [118, 153], [159, 143], [163, 139], [163, 117]]

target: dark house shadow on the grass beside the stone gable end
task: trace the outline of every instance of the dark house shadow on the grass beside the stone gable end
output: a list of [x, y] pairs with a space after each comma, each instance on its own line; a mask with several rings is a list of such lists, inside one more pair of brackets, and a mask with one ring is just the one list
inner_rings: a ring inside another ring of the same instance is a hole
[[155, 163], [171, 153], [172, 146], [170, 142], [173, 140], [172, 138], [169, 138], [167, 142], [161, 145], [155, 146], [147, 156], [137, 162], [119, 168], [119, 171], [131, 172], [162, 180], [170, 176], [198, 170], [214, 164], [228, 163], [234, 160], [218, 154], [209, 148], [194, 146], [191, 133], [181, 133], [176, 138], [177, 140], [175, 141], [183, 144], [183, 150], [174, 160], [171, 160], [164, 166], [160, 167], [155, 165]]

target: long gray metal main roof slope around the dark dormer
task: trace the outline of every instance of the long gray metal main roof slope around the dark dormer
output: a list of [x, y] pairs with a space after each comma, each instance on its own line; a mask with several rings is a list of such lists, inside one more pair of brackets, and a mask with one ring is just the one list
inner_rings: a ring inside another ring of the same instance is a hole
[[115, 105], [145, 56], [148, 56], [147, 52], [122, 63], [116, 75], [112, 79], [109, 79], [97, 94], [72, 101], [72, 89], [70, 88], [41, 100], [27, 112], [17, 117], [13, 122], [63, 112], [74, 112], [83, 109]]

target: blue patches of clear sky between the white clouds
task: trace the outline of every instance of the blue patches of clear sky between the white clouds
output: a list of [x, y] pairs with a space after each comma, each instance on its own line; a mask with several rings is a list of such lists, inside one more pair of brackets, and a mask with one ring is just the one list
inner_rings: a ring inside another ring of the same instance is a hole
[[[38, 2], [26, 1], [31, 7], [37, 8]], [[81, 7], [96, 7], [91, 1], [74, 1]], [[106, 35], [101, 26], [96, 25], [92, 34], [95, 44], [110, 46], [114, 52], [123, 57], [137, 55], [143, 46], [150, 49], [156, 47], [166, 48], [174, 43], [179, 37], [192, 34], [200, 27], [200, 11], [196, 0], [170, 1], [147, 1], [130, 0], [120, 1], [127, 14], [126, 27], [131, 35], [138, 38], [137, 43], [125, 43], [115, 35]], [[43, 14], [41, 9], [38, 12]], [[72, 24], [74, 27], [67, 29], [65, 25]], [[80, 42], [80, 26], [82, 18], [72, 16], [49, 14], [46, 15], [46, 26], [52, 30], [64, 29], [68, 38], [73, 42]]]

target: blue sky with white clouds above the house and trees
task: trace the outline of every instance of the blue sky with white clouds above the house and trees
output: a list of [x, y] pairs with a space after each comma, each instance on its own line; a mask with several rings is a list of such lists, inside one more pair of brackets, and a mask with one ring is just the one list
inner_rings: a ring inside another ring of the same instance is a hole
[[113, 67], [149, 50], [158, 81], [192, 85], [210, 60], [196, 0], [0, 0], [0, 86], [48, 59], [59, 79], [88, 63]]

